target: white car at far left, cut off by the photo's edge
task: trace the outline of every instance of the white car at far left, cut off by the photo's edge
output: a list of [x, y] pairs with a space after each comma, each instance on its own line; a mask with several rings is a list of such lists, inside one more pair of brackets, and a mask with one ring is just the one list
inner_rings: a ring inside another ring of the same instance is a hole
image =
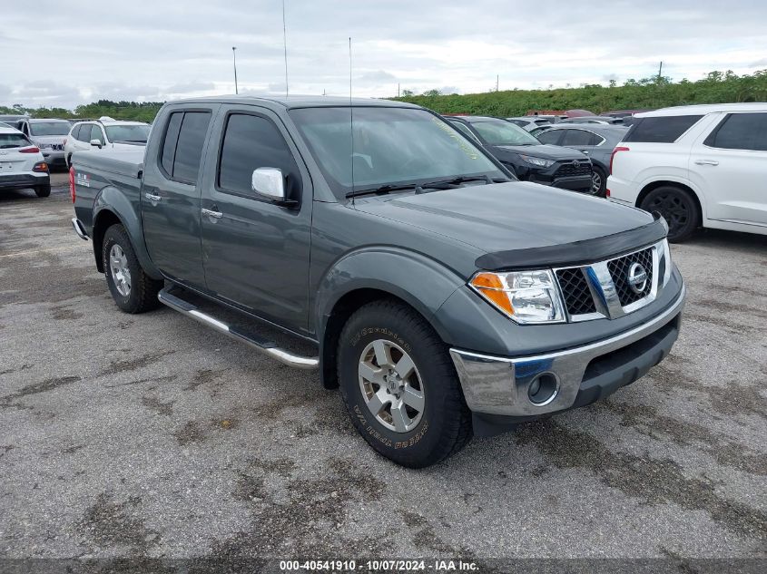
[[51, 195], [51, 178], [43, 154], [15, 128], [0, 127], [0, 190], [32, 189], [38, 198]]

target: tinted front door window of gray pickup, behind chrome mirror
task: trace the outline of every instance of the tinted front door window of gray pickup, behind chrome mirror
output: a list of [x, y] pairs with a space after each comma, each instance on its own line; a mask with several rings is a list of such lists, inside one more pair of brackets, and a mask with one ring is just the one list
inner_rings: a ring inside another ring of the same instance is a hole
[[258, 115], [232, 113], [221, 144], [219, 187], [258, 197], [251, 189], [251, 177], [259, 168], [282, 170], [287, 178], [287, 197], [298, 199], [299, 168], [277, 126]]

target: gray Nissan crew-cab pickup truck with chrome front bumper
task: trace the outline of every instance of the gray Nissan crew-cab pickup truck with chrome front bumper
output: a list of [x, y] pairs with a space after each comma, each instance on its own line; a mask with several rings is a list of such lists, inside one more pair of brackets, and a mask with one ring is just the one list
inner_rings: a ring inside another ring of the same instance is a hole
[[117, 306], [162, 303], [319, 369], [405, 466], [591, 404], [679, 334], [663, 219], [517, 181], [418, 106], [172, 102], [145, 153], [73, 164], [74, 230]]

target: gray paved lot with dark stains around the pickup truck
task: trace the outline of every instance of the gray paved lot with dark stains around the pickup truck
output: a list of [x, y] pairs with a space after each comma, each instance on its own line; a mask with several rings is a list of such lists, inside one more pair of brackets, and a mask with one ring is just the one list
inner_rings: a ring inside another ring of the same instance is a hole
[[765, 556], [767, 238], [674, 246], [683, 332], [644, 379], [415, 472], [317, 375], [120, 313], [65, 178], [0, 197], [0, 556]]

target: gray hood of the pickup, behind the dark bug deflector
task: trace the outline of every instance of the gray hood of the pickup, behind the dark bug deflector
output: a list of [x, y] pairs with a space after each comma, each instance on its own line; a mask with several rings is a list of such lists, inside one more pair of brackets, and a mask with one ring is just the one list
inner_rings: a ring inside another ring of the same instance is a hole
[[588, 242], [654, 221], [640, 209], [526, 181], [357, 199], [355, 208], [455, 239], [481, 253]]

